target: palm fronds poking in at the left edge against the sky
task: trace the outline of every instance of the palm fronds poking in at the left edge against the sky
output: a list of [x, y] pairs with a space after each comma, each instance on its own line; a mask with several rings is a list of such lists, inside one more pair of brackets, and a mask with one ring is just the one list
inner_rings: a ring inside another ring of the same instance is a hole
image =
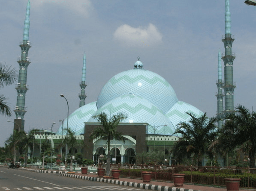
[[[16, 81], [17, 72], [15, 68], [8, 67], [7, 65], [0, 63], [0, 88], [5, 85], [11, 85]], [[7, 117], [12, 116], [11, 109], [9, 108], [9, 103], [6, 103], [7, 98], [4, 95], [0, 95], [0, 114], [6, 115]]]

